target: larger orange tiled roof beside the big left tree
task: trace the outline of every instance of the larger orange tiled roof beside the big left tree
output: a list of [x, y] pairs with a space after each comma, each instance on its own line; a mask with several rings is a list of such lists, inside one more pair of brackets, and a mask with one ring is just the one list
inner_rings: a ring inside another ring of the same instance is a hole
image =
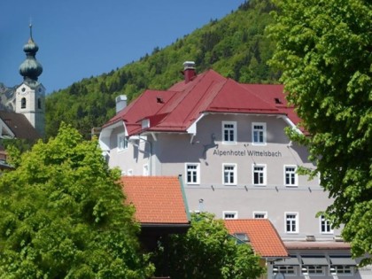
[[136, 207], [136, 220], [151, 224], [189, 223], [182, 185], [177, 176], [122, 176], [127, 202]]

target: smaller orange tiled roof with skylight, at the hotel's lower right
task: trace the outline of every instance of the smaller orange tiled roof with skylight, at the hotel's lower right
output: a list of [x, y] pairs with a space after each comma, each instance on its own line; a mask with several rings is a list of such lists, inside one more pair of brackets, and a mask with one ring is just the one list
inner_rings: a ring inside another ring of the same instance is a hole
[[261, 257], [288, 257], [282, 239], [267, 219], [225, 220], [225, 226], [230, 235], [245, 233]]

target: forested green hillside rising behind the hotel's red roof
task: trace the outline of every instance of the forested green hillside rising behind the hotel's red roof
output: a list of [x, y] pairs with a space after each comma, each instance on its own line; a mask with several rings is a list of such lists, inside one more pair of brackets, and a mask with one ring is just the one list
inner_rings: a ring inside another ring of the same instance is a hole
[[55, 136], [61, 121], [71, 123], [85, 137], [115, 112], [115, 97], [130, 102], [144, 89], [167, 89], [182, 79], [182, 63], [196, 62], [198, 73], [208, 68], [246, 83], [272, 83], [278, 73], [270, 70], [274, 43], [264, 35], [272, 22], [269, 0], [251, 0], [221, 20], [211, 20], [164, 49], [155, 47], [139, 61], [108, 74], [83, 79], [53, 92], [46, 100], [46, 133]]

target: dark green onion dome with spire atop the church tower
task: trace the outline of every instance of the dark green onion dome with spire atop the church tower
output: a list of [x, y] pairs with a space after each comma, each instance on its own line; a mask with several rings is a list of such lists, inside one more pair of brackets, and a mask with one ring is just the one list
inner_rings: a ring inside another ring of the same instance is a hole
[[32, 38], [32, 26], [30, 25], [30, 38], [23, 47], [26, 60], [19, 66], [19, 74], [23, 76], [24, 81], [30, 83], [35, 83], [39, 75], [43, 73], [43, 66], [35, 58], [37, 50], [39, 47]]

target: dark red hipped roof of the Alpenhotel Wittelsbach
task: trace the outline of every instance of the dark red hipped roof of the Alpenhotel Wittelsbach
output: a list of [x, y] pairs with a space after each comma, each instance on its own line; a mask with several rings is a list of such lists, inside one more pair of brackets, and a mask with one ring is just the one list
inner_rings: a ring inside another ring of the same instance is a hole
[[[175, 83], [167, 91], [144, 91], [104, 128], [123, 120], [128, 136], [144, 130], [186, 132], [204, 112], [279, 114], [294, 124], [299, 122], [285, 101], [283, 85], [241, 84], [209, 70], [192, 81]], [[144, 119], [150, 120], [150, 128], [142, 128]]]

